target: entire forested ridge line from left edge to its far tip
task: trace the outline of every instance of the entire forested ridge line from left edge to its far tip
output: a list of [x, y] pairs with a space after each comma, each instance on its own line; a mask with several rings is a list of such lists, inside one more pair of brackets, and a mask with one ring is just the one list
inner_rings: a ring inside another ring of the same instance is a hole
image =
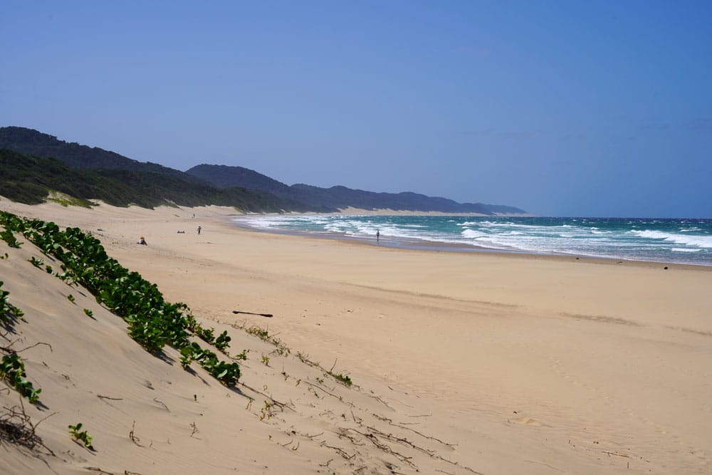
[[[6, 149], [22, 157], [5, 153], [0, 160], [0, 194], [26, 203], [41, 202], [48, 190], [57, 190], [72, 197], [104, 199], [117, 206], [138, 204], [154, 207], [160, 204], [199, 206], [229, 205], [249, 212], [337, 212], [340, 209], [392, 209], [408, 212], [444, 212], [471, 214], [526, 214], [523, 209], [482, 203], [458, 203], [442, 197], [427, 197], [414, 192], [377, 193], [342, 186], [313, 187], [308, 184], [291, 186], [244, 167], [197, 165], [181, 172], [157, 163], [138, 162], [115, 152], [58, 140], [26, 127], [0, 127], [0, 150]], [[50, 162], [35, 163], [36, 171], [17, 170], [17, 162], [31, 165], [38, 157], [54, 158], [69, 169], [85, 170], [73, 176], [75, 187], [63, 183], [70, 174]], [[37, 170], [41, 169], [42, 172]], [[49, 172], [53, 172], [48, 175]], [[136, 185], [139, 185], [136, 187]], [[136, 187], [124, 196], [107, 197], [97, 194], [107, 187]], [[64, 188], [64, 189], [62, 189]], [[92, 193], [94, 196], [92, 196]]]

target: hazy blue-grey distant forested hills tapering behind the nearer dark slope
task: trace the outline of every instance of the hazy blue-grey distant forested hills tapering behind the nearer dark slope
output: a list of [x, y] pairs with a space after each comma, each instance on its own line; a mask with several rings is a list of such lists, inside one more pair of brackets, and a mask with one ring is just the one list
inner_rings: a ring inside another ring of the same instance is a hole
[[197, 165], [186, 171], [216, 187], [245, 187], [261, 189], [278, 197], [292, 199], [311, 207], [345, 209], [394, 209], [477, 214], [526, 214], [523, 209], [482, 203], [458, 203], [441, 197], [428, 197], [413, 192], [377, 193], [347, 187], [320, 188], [308, 184], [288, 186], [251, 169], [226, 165]]

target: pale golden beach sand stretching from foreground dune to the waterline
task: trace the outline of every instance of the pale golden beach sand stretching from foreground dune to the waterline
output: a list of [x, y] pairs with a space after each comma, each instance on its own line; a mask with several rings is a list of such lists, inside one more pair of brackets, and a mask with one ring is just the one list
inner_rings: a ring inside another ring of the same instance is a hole
[[[37, 433], [55, 454], [3, 443], [3, 473], [712, 473], [711, 268], [266, 234], [224, 207], [0, 209], [91, 231], [228, 330], [231, 353], [249, 350], [239, 391], [186, 372], [31, 266], [31, 244], [0, 243], [0, 280], [26, 313], [8, 338], [51, 344], [21, 355], [46, 405], [24, 407], [51, 416]], [[76, 422], [95, 452], [71, 440]]]

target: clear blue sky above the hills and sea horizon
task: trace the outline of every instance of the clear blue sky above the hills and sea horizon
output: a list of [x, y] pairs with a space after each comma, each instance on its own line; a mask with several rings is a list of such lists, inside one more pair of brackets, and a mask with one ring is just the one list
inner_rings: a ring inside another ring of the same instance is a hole
[[542, 216], [712, 218], [710, 1], [6, 1], [0, 126]]

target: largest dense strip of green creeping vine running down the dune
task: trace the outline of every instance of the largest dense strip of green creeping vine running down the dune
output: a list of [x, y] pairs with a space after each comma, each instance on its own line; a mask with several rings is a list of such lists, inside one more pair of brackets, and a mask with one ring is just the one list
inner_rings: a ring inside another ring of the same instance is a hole
[[[93, 293], [98, 303], [129, 324], [131, 338], [150, 353], [170, 345], [181, 352], [184, 367], [196, 361], [227, 386], [239, 380], [237, 363], [221, 362], [214, 353], [189, 341], [191, 335], [197, 335], [225, 353], [230, 340], [226, 332], [214, 338], [213, 330], [202, 328], [185, 303], [165, 301], [154, 283], [110, 258], [95, 237], [79, 228], [61, 231], [52, 222], [21, 219], [7, 212], [0, 212], [0, 225], [10, 234], [21, 232], [43, 254], [61, 261], [63, 272], [55, 275], [70, 286], [81, 285]], [[51, 268], [46, 270], [51, 272]]]

